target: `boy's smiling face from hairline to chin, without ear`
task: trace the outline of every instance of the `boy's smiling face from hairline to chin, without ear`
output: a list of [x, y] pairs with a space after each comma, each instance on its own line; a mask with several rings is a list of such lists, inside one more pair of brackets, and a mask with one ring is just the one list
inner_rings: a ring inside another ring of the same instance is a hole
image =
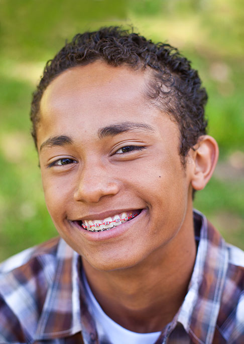
[[[63, 72], [41, 101], [47, 208], [63, 239], [100, 270], [160, 252], [192, 216], [191, 164], [181, 164], [177, 124], [146, 98], [147, 80], [147, 72], [95, 62]], [[139, 215], [109, 230], [94, 226], [131, 213]]]

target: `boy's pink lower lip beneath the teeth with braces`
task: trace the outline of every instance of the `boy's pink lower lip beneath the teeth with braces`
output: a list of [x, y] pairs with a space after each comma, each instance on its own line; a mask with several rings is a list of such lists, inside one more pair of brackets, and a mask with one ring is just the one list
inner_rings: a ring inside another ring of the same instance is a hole
[[71, 222], [71, 226], [75, 228], [78, 228], [80, 230], [80, 232], [82, 233], [82, 235], [84, 235], [84, 237], [89, 240], [89, 241], [102, 241], [102, 240], [108, 240], [111, 238], [115, 238], [117, 236], [123, 235], [125, 232], [127, 232], [131, 226], [135, 226], [137, 225], [137, 223], [142, 219], [142, 217], [145, 215], [145, 213], [147, 212], [146, 209], [143, 209], [141, 211], [141, 213], [136, 216], [134, 219], [121, 223], [118, 226], [114, 226], [113, 228], [109, 229], [108, 231], [104, 230], [103, 232], [92, 232], [92, 231], [88, 231], [84, 228], [82, 228], [81, 226], [78, 225], [78, 223], [76, 222]]

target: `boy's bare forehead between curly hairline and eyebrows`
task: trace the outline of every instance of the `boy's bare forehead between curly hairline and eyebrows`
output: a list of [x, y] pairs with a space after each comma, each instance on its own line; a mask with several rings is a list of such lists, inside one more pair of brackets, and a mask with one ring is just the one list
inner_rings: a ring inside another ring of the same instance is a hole
[[149, 78], [148, 70], [101, 61], [63, 72], [43, 94], [38, 141], [50, 135], [78, 135], [79, 130], [82, 135], [96, 135], [97, 129], [122, 122], [158, 127], [163, 113], [146, 96]]

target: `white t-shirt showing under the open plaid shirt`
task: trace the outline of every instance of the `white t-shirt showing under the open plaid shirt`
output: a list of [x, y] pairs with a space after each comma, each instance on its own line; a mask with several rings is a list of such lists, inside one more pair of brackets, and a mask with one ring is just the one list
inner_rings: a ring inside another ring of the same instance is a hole
[[95, 299], [84, 271], [82, 277], [85, 286], [87, 305], [94, 317], [98, 338], [101, 344], [121, 344], [121, 342], [127, 344], [154, 344], [161, 332], [137, 333], [129, 331], [117, 324], [104, 313]]

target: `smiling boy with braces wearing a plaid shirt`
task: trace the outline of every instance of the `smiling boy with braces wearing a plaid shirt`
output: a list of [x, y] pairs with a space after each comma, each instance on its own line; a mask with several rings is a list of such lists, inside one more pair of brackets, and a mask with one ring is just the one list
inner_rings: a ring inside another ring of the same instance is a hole
[[243, 342], [243, 252], [192, 209], [206, 100], [177, 50], [119, 28], [48, 62], [32, 134], [62, 239], [2, 264], [0, 343]]

